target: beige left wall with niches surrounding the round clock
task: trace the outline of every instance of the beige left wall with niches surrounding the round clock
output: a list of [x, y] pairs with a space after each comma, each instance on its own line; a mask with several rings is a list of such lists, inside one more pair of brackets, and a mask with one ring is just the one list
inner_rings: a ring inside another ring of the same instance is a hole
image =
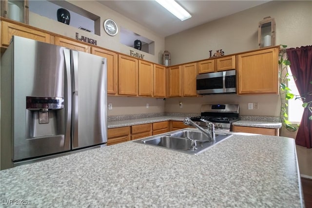
[[[39, 16], [32, 12], [30, 12], [29, 14], [29, 25], [32, 25], [34, 27], [38, 27], [38, 28], [41, 28], [43, 30], [47, 30], [50, 32], [54, 32], [54, 33], [57, 33], [57, 34], [60, 34], [69, 38], [76, 38], [76, 32], [78, 32], [79, 37], [85, 36], [85, 37], [97, 40], [97, 44], [100, 47], [104, 47], [104, 48], [117, 51], [123, 54], [127, 54], [127, 55], [130, 55], [130, 50], [133, 50], [135, 52], [139, 52], [140, 54], [143, 54], [145, 60], [149, 60], [155, 63], [161, 63], [162, 53], [164, 52], [164, 46], [165, 46], [164, 37], [161, 37], [155, 34], [151, 30], [139, 25], [137, 22], [122, 16], [121, 14], [115, 12], [114, 10], [111, 10], [110, 8], [104, 6], [103, 4], [98, 3], [95, 0], [92, 0], [92, 1], [72, 0], [69, 2], [80, 8], [83, 8], [84, 10], [92, 12], [93, 14], [100, 17], [100, 25], [101, 25], [100, 36], [79, 30], [78, 28], [63, 24], [53, 19], [48, 19], [46, 17]], [[155, 41], [155, 55], [151, 55], [142, 51], [138, 51], [132, 47], [128, 47], [126, 45], [121, 44], [119, 42], [120, 32], [114, 37], [107, 35], [102, 26], [103, 22], [106, 19], [114, 19], [117, 23], [117, 26], [119, 27], [119, 30], [120, 30], [120, 27], [124, 27], [137, 34], [140, 34], [143, 37], [154, 40]]]

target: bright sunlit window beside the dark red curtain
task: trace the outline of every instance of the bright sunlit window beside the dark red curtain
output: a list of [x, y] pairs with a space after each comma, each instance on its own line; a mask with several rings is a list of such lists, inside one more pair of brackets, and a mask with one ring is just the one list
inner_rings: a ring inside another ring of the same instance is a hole
[[[291, 70], [288, 70], [288, 73], [291, 75]], [[299, 95], [298, 89], [296, 87], [295, 81], [292, 76], [290, 76], [290, 81], [288, 81], [288, 87], [292, 90], [293, 95]], [[291, 99], [288, 100], [288, 120], [292, 123], [300, 123], [302, 113], [304, 108], [302, 107], [302, 100], [300, 99]]]

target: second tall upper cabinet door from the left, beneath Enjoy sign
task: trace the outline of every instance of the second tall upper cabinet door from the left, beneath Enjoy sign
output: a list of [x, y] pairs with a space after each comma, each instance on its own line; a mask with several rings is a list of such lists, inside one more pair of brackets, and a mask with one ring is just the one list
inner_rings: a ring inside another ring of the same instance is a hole
[[118, 94], [137, 95], [138, 61], [118, 55]]

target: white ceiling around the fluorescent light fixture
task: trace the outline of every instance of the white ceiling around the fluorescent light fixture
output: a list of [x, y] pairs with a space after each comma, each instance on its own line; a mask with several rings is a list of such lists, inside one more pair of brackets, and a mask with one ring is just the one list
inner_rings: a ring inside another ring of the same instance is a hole
[[154, 0], [98, 0], [123, 16], [167, 37], [269, 0], [176, 0], [192, 18], [181, 21]]

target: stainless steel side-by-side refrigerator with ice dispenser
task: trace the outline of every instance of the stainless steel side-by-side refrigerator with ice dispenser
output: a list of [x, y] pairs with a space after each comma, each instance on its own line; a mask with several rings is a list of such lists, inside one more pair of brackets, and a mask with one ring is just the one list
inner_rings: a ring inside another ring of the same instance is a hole
[[1, 166], [105, 145], [106, 66], [104, 57], [14, 36], [1, 57]]

